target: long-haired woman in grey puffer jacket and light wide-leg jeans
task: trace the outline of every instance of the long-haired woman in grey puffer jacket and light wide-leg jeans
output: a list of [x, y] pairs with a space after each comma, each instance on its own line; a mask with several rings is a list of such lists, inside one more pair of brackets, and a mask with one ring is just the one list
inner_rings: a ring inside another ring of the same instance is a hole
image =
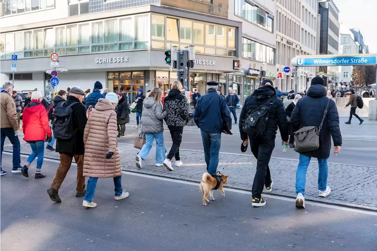
[[147, 159], [150, 149], [153, 145], [153, 139], [156, 140], [156, 164], [162, 166], [165, 160], [165, 143], [164, 143], [164, 122], [166, 111], [162, 111], [162, 90], [158, 87], [152, 89], [149, 97], [143, 101], [143, 115], [141, 121], [143, 124], [142, 132], [146, 136], [146, 144], [143, 145], [136, 156], [136, 167], [141, 168], [141, 162]]

